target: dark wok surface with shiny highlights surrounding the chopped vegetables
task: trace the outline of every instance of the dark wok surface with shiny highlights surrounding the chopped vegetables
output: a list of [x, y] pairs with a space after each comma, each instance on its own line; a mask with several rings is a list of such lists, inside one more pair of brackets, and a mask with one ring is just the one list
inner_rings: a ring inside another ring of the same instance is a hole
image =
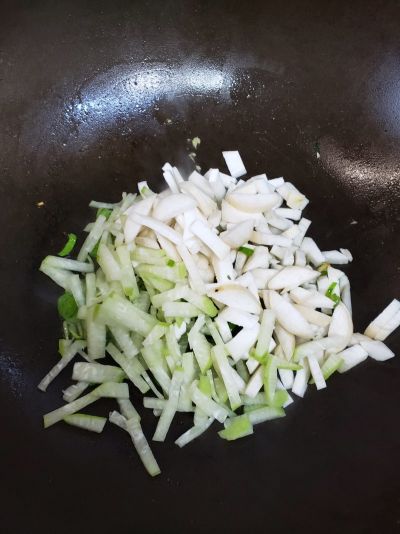
[[41, 258], [89, 221], [92, 198], [161, 188], [165, 161], [188, 171], [194, 136], [203, 170], [239, 149], [250, 175], [311, 199], [311, 236], [354, 254], [356, 329], [399, 296], [399, 3], [26, 0], [1, 13], [1, 531], [398, 532], [397, 358], [332, 377], [233, 444], [209, 431], [179, 450], [182, 415], [154, 444], [157, 479], [111, 425], [44, 431], [69, 371], [46, 395], [36, 385], [60, 333]]

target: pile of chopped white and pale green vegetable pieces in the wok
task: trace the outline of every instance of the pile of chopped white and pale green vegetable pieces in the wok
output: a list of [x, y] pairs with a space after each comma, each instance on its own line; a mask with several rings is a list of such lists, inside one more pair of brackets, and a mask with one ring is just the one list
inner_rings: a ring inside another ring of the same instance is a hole
[[164, 441], [176, 412], [186, 412], [193, 426], [180, 447], [214, 423], [231, 441], [283, 417], [292, 395], [325, 388], [336, 371], [394, 356], [383, 341], [400, 324], [400, 302], [353, 333], [349, 279], [332, 267], [352, 261], [350, 252], [321, 251], [306, 237], [308, 200], [292, 183], [265, 174], [244, 181], [239, 153], [223, 156], [229, 175], [210, 169], [185, 180], [167, 163], [162, 193], [141, 182], [118, 204], [91, 202], [97, 216], [77, 259], [64, 257], [77, 241], [69, 234], [40, 267], [64, 289], [64, 339], [39, 388], [82, 360], [45, 427], [102, 432], [107, 419], [81, 410], [114, 398], [108, 420], [153, 476], [160, 469], [130, 401], [135, 389], [157, 417], [153, 440]]

